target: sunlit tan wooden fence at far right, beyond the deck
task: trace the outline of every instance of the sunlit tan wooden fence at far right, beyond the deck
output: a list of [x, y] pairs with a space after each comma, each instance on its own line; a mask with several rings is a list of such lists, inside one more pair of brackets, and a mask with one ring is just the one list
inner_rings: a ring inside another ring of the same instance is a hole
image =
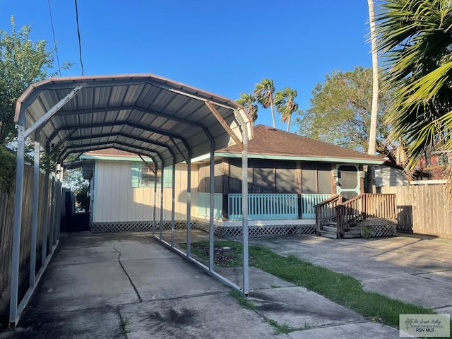
[[445, 185], [382, 187], [396, 194], [398, 230], [452, 237], [452, 203]]

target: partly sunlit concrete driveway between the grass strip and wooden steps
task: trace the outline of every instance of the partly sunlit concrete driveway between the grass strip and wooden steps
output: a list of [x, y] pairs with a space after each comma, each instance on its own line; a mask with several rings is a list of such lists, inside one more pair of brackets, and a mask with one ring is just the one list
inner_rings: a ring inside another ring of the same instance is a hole
[[367, 290], [451, 314], [451, 239], [411, 235], [379, 239], [297, 236], [252, 239], [250, 243], [352, 275]]

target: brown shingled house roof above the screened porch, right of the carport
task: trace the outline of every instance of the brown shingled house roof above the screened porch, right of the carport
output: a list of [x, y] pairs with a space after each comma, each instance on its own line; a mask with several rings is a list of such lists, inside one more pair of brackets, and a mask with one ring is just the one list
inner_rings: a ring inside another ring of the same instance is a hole
[[[241, 150], [232, 145], [218, 150], [220, 156], [239, 156]], [[306, 136], [273, 129], [269, 126], [254, 126], [254, 138], [248, 143], [249, 157], [287, 160], [316, 160], [335, 162], [358, 162], [381, 164], [381, 157], [368, 155], [331, 143], [323, 143]]]

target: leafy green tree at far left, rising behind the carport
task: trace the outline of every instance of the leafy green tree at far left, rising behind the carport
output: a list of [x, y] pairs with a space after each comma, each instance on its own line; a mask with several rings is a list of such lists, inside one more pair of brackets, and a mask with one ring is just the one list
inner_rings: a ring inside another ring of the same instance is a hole
[[16, 136], [14, 111], [18, 97], [29, 85], [51, 74], [54, 51], [47, 51], [45, 40], [30, 40], [31, 26], [16, 31], [11, 16], [11, 34], [0, 30], [0, 144]]

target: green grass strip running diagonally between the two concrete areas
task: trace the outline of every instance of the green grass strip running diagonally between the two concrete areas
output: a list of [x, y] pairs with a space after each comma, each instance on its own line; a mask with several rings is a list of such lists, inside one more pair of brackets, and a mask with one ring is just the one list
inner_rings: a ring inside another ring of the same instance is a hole
[[[208, 251], [206, 253], [203, 250], [205, 246], [208, 246], [208, 242], [194, 243], [192, 244], [191, 251], [196, 256], [207, 259]], [[220, 249], [225, 246], [235, 249], [235, 251], [230, 251], [232, 258], [230, 261], [226, 261], [226, 266], [242, 266], [242, 244], [221, 240], [214, 244], [215, 249]], [[380, 295], [379, 293], [363, 290], [362, 283], [350, 277], [350, 275], [335, 273], [332, 270], [316, 266], [296, 256], [280, 256], [269, 249], [256, 245], [249, 246], [249, 254], [253, 258], [249, 263], [250, 266], [260, 268], [297, 286], [306, 287], [308, 290], [352, 309], [372, 321], [379, 321], [398, 328], [399, 314], [436, 313], [426, 307], [408, 304]], [[215, 260], [215, 264], [225, 266], [223, 261], [217, 262]], [[236, 298], [238, 299], [238, 297]], [[242, 302], [245, 303], [244, 301]], [[269, 323], [270, 321], [268, 319]], [[278, 330], [280, 333], [293, 331], [285, 328], [287, 326], [278, 326], [280, 327]], [[278, 326], [275, 326], [275, 328], [278, 329]]]

